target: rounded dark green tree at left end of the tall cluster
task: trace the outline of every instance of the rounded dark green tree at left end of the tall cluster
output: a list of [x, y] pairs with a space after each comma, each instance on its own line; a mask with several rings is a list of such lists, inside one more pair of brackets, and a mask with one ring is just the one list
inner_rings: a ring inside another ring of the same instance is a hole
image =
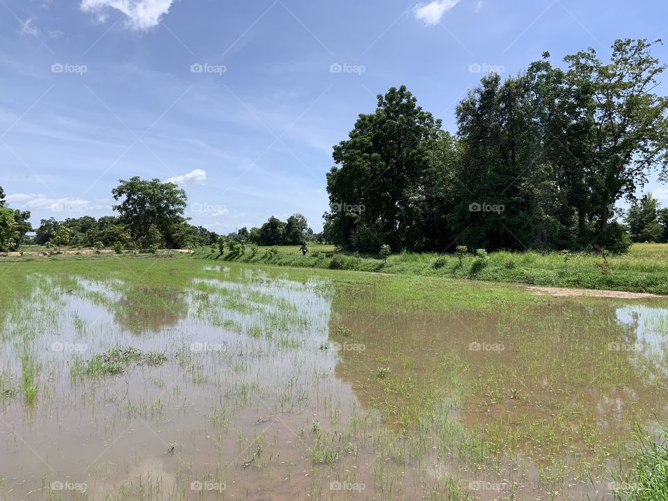
[[406, 86], [378, 96], [374, 113], [360, 115], [349, 138], [334, 147], [327, 175], [331, 234], [360, 250], [381, 245], [414, 249], [423, 226], [420, 203], [441, 122], [417, 106]]

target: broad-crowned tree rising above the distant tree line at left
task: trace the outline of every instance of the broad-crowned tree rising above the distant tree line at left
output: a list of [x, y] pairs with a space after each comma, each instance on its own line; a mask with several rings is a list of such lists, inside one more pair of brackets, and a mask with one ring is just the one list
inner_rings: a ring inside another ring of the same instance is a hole
[[[120, 180], [120, 184], [111, 190], [114, 200], [121, 200], [114, 205], [120, 222], [125, 224], [134, 239], [148, 245], [166, 244], [173, 247], [179, 225], [186, 208], [186, 192], [176, 184], [161, 182], [158, 179], [142, 180], [138, 176], [129, 180]], [[145, 247], [145, 248], [148, 248]]]

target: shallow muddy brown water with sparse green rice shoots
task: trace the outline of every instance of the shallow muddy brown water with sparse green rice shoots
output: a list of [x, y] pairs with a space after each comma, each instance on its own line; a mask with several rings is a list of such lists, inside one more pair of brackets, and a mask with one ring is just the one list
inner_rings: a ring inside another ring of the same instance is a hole
[[[668, 413], [657, 301], [435, 313], [240, 267], [26, 280], [0, 337], [6, 500], [610, 498], [634, 427]], [[167, 361], [81, 369], [122, 346]]]

